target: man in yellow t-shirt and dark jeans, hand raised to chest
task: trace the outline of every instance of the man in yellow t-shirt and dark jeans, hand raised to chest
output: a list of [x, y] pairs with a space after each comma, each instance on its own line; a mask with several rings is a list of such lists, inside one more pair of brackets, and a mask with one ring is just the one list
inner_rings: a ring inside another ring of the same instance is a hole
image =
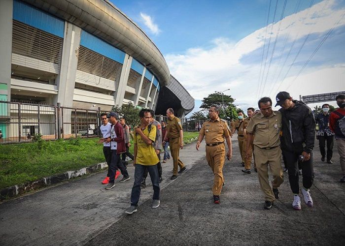
[[151, 113], [149, 109], [141, 109], [139, 112], [141, 124], [135, 129], [134, 134], [134, 184], [131, 194], [131, 207], [126, 210], [126, 214], [132, 215], [137, 212], [138, 201], [140, 197], [140, 184], [145, 170], [151, 177], [153, 187], [152, 208], [158, 208], [159, 201], [159, 178], [157, 163], [159, 162], [153, 143], [156, 138], [156, 126], [150, 125]]

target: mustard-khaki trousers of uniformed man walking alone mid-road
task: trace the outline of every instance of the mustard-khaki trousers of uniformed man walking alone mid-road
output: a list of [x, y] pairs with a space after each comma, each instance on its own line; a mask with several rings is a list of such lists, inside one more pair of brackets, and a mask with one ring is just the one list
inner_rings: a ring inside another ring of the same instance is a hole
[[224, 183], [223, 166], [225, 161], [225, 145], [206, 146], [206, 160], [214, 174], [213, 195], [218, 196]]

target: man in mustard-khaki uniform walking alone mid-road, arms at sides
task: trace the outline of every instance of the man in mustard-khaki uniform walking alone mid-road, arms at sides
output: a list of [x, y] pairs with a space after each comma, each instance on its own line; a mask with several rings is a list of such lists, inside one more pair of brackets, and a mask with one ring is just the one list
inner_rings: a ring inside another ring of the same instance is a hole
[[217, 105], [211, 105], [208, 110], [208, 116], [210, 120], [207, 120], [200, 130], [198, 142], [196, 145], [199, 151], [200, 143], [205, 136], [206, 141], [206, 159], [208, 165], [212, 168], [214, 174], [213, 181], [213, 200], [214, 203], [220, 202], [219, 195], [224, 184], [223, 178], [223, 165], [225, 160], [225, 145], [224, 137], [228, 145], [229, 151], [226, 154], [228, 160], [232, 157], [232, 146], [230, 139], [230, 128], [226, 121], [219, 119], [219, 107]]

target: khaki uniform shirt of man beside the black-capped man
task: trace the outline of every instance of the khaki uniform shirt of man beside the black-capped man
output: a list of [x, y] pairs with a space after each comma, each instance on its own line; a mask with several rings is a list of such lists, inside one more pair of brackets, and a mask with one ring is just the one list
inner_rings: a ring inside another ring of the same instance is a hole
[[281, 128], [281, 114], [273, 111], [266, 118], [263, 114], [254, 115], [247, 126], [246, 131], [255, 134], [253, 144], [259, 148], [273, 148], [280, 145], [279, 132]]

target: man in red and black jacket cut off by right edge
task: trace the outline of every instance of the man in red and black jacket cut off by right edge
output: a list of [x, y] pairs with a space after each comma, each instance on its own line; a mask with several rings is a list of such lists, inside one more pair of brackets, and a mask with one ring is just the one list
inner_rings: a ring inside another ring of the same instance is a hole
[[329, 117], [329, 128], [335, 133], [338, 153], [340, 155], [340, 166], [343, 172], [341, 183], [345, 183], [345, 95], [336, 97], [339, 109], [333, 111]]

